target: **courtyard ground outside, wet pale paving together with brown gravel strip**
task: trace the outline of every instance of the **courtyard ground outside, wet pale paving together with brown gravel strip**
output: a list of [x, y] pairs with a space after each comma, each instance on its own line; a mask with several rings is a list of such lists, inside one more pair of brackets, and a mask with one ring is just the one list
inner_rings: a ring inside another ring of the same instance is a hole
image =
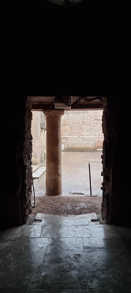
[[[45, 194], [44, 173], [39, 180], [34, 179], [36, 207], [33, 214], [86, 214], [101, 213], [102, 203], [102, 163], [101, 151], [64, 151], [62, 152], [62, 195], [47, 196]], [[97, 197], [86, 197], [90, 193], [88, 161], [91, 164], [92, 193]], [[42, 166], [45, 167], [46, 163]], [[41, 166], [41, 167], [42, 167]], [[78, 194], [71, 194], [78, 193]], [[83, 193], [83, 195], [79, 195]]]

